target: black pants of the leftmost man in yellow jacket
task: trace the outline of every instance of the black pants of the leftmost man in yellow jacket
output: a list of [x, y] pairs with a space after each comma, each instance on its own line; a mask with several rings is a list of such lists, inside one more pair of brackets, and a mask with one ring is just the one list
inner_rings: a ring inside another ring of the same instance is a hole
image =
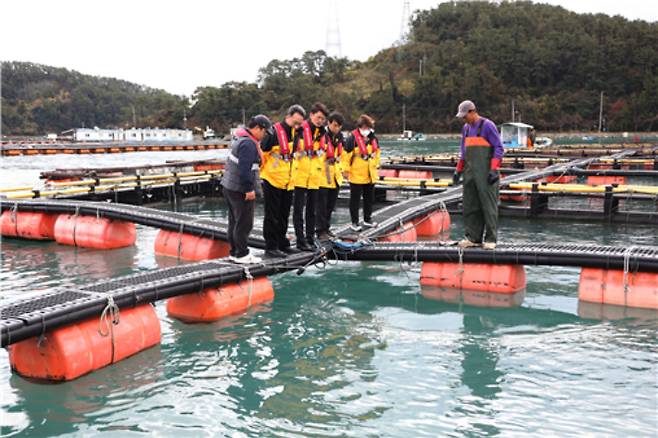
[[292, 190], [278, 189], [263, 180], [263, 197], [265, 198], [265, 219], [263, 220], [265, 248], [286, 249], [290, 246], [286, 235], [292, 205]]

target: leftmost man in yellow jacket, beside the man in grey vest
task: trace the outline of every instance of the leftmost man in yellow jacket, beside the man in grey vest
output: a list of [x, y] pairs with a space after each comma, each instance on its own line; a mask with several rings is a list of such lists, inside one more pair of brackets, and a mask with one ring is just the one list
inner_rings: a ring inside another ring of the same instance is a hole
[[265, 218], [263, 237], [265, 257], [285, 257], [299, 252], [288, 240], [288, 218], [292, 205], [289, 189], [292, 170], [292, 152], [301, 139], [301, 126], [306, 111], [301, 105], [288, 108], [283, 121], [275, 123], [272, 135], [261, 141], [263, 163], [260, 176], [263, 180]]

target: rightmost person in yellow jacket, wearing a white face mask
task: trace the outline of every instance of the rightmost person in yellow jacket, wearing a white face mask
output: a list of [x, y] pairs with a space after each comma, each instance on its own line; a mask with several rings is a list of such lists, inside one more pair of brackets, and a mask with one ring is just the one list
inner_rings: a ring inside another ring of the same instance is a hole
[[350, 217], [352, 231], [361, 231], [359, 225], [359, 204], [363, 196], [363, 227], [371, 228], [377, 224], [372, 221], [372, 205], [375, 199], [375, 182], [379, 179], [377, 169], [381, 151], [375, 137], [375, 120], [363, 114], [356, 122], [357, 129], [352, 131], [345, 142], [345, 151], [349, 162], [350, 181]]

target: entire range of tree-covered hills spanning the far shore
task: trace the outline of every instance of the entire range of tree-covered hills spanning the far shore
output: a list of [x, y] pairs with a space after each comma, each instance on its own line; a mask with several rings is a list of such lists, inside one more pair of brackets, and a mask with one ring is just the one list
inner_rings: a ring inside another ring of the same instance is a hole
[[[376, 21], [371, 25], [376, 25]], [[344, 42], [355, 44], [356, 42]], [[226, 132], [242, 110], [280, 118], [320, 100], [348, 119], [367, 112], [379, 132], [454, 132], [473, 99], [501, 123], [541, 131], [592, 130], [604, 93], [610, 131], [658, 130], [658, 23], [576, 14], [529, 2], [454, 2], [414, 15], [407, 41], [366, 62], [306, 52], [272, 60], [256, 83], [199, 87], [189, 124]], [[3, 133], [74, 126], [180, 126], [185, 98], [114, 79], [22, 63], [2, 66]]]

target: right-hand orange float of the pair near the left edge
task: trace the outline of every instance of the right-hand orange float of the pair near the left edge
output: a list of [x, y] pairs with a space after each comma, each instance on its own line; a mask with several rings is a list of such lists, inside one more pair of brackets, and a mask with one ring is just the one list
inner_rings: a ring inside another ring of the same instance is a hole
[[55, 240], [82, 248], [113, 249], [135, 244], [132, 222], [95, 216], [60, 214], [55, 222]]

